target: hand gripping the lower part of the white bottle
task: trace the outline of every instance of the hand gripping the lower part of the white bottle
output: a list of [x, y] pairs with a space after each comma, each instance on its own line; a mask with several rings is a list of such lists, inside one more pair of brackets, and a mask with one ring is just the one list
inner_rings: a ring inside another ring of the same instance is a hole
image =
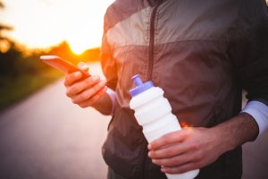
[[213, 163], [226, 149], [221, 135], [209, 128], [185, 128], [148, 145], [148, 156], [163, 173], [180, 174]]

